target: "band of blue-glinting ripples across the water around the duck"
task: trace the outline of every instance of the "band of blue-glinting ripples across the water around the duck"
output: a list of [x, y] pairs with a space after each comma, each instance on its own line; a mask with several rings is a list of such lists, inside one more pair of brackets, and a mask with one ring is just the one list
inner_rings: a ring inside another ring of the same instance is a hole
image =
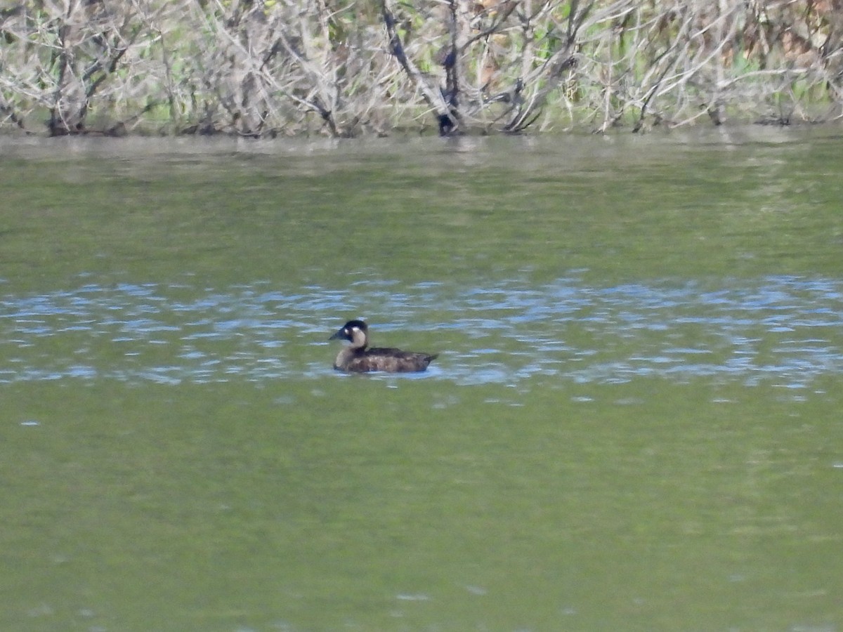
[[[325, 339], [346, 315], [378, 323], [379, 343], [405, 345], [411, 334], [441, 351], [427, 378], [458, 384], [714, 376], [798, 388], [843, 370], [837, 280], [588, 287], [571, 276], [543, 287], [360, 281], [352, 290], [288, 294], [260, 282], [225, 291], [88, 285], [7, 296], [0, 301], [0, 382], [324, 376], [336, 352]], [[379, 313], [367, 313], [370, 305]]]

